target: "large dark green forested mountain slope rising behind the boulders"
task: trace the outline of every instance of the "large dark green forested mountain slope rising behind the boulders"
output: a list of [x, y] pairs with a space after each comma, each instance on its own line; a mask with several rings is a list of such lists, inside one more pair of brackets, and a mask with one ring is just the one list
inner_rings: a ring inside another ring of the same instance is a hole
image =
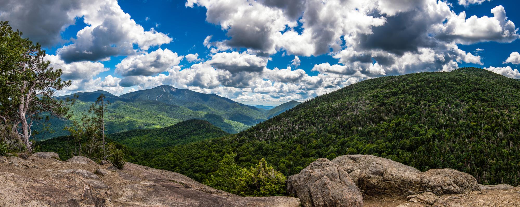
[[519, 108], [520, 82], [482, 69], [385, 76], [311, 99], [237, 135], [129, 157], [202, 180], [231, 150], [241, 166], [265, 157], [285, 175], [317, 158], [373, 154], [516, 186]]

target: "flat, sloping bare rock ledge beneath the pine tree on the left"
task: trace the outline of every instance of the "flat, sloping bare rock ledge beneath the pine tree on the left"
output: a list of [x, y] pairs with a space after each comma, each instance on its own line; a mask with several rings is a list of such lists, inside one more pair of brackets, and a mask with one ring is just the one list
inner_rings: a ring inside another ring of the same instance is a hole
[[293, 197], [240, 197], [170, 171], [126, 163], [122, 170], [84, 157], [0, 156], [0, 206], [282, 206]]

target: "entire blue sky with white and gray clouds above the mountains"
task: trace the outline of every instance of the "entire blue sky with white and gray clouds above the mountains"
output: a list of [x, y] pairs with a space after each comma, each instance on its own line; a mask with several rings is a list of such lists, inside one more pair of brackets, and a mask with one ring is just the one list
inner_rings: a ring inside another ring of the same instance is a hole
[[520, 79], [516, 0], [7, 0], [0, 21], [72, 85], [171, 85], [249, 105], [386, 75], [478, 67]]

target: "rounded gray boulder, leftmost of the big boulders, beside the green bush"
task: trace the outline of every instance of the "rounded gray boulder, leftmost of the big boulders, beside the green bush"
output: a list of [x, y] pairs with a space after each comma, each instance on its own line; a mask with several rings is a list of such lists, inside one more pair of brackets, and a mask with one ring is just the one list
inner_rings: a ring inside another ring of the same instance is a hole
[[359, 188], [347, 172], [326, 158], [320, 158], [287, 179], [288, 191], [305, 207], [363, 206]]

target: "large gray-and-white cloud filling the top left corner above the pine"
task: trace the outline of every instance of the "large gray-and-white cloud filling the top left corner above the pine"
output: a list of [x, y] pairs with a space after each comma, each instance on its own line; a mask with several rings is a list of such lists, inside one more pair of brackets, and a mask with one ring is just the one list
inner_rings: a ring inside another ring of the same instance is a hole
[[67, 63], [132, 55], [135, 45], [140, 50], [148, 50], [150, 46], [172, 41], [154, 29], [145, 31], [113, 0], [0, 1], [0, 20], [9, 20], [25, 37], [44, 46], [66, 43], [60, 32], [79, 17], [88, 26], [77, 32], [72, 44], [58, 49]]

